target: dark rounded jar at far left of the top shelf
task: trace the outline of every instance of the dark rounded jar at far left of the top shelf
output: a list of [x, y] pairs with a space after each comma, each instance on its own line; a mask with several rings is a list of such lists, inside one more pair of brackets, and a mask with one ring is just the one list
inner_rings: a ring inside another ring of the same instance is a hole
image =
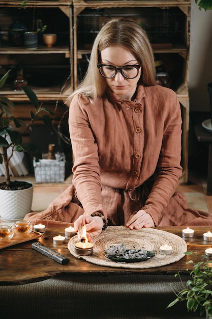
[[27, 31], [25, 25], [19, 21], [13, 22], [9, 26], [8, 38], [9, 45], [11, 46], [23, 46], [24, 44], [24, 32]]

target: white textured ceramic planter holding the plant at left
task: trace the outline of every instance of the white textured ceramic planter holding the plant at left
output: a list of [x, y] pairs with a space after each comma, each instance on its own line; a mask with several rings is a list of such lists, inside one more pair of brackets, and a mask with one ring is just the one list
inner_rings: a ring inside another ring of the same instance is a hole
[[5, 191], [0, 189], [0, 219], [4, 222], [16, 221], [31, 212], [33, 184], [28, 189]]

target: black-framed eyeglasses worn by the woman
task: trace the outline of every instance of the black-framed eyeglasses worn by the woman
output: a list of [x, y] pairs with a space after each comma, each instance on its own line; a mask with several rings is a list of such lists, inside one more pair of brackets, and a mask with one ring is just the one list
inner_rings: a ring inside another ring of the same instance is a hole
[[135, 78], [138, 75], [138, 71], [141, 67], [141, 62], [138, 65], [124, 65], [120, 68], [109, 64], [99, 64], [97, 65], [100, 74], [106, 78], [112, 78], [116, 75], [119, 70], [122, 75], [126, 78]]

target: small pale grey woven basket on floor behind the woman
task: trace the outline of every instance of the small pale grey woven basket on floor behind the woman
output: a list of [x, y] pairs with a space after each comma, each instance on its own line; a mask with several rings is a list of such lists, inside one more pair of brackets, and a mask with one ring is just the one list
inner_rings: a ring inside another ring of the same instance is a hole
[[[43, 157], [45, 158], [44, 155]], [[60, 153], [57, 159], [36, 160], [36, 158], [34, 158], [33, 166], [37, 183], [55, 183], [65, 180], [64, 153]]]

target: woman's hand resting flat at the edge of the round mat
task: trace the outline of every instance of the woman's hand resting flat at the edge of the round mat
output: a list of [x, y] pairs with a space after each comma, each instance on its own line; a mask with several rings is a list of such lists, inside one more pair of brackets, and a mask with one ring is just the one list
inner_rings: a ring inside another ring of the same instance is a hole
[[140, 229], [142, 227], [150, 228], [154, 227], [154, 221], [152, 217], [141, 209], [136, 212], [135, 215], [131, 215], [129, 221], [126, 223], [126, 226], [130, 229]]

